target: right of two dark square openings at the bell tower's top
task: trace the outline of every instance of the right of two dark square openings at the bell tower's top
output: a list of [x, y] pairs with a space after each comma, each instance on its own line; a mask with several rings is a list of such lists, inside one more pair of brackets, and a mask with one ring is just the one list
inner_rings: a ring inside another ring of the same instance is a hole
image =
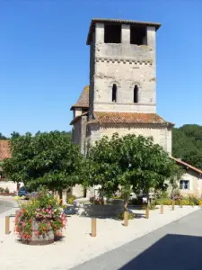
[[145, 27], [130, 26], [130, 44], [146, 45]]

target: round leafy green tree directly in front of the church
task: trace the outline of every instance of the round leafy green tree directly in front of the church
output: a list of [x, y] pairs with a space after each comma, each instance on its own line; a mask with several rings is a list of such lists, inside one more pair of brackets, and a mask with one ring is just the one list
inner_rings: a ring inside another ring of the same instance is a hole
[[83, 183], [100, 184], [101, 192], [108, 195], [121, 186], [127, 208], [131, 190], [148, 196], [151, 190], [161, 188], [175, 169], [175, 162], [152, 138], [114, 134], [111, 139], [104, 137], [89, 146]]

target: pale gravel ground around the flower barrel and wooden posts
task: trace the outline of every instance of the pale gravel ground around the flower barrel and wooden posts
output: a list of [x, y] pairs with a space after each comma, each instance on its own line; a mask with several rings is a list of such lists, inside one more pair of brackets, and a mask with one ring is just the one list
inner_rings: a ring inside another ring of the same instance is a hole
[[[22, 245], [12, 231], [0, 242], [0, 269], [70, 269], [197, 210], [197, 206], [185, 206], [182, 209], [176, 206], [175, 211], [171, 211], [171, 207], [164, 207], [163, 214], [160, 214], [159, 209], [150, 211], [149, 220], [144, 217], [129, 220], [128, 227], [124, 227], [120, 220], [97, 219], [96, 238], [90, 235], [91, 219], [73, 215], [67, 218], [65, 237], [48, 246]], [[139, 210], [135, 212], [140, 216], [145, 213]], [[3, 230], [4, 219], [0, 215], [0, 231]]]

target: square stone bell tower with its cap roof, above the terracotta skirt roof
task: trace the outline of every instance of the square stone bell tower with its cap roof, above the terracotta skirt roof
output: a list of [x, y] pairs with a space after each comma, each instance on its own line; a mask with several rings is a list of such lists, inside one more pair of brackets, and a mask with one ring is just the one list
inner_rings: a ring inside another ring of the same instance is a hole
[[92, 20], [90, 112], [155, 112], [155, 34], [160, 23]]

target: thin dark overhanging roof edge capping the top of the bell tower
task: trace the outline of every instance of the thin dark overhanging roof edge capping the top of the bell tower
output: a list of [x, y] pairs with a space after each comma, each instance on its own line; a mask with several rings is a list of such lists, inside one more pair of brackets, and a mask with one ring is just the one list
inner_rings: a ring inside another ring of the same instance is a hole
[[92, 41], [92, 32], [94, 31], [95, 23], [116, 23], [116, 24], [132, 24], [132, 25], [141, 25], [141, 26], [154, 26], [155, 30], [157, 31], [159, 27], [162, 25], [161, 23], [152, 23], [152, 22], [138, 22], [138, 21], [130, 21], [130, 20], [121, 20], [121, 19], [99, 19], [94, 18], [89, 27], [88, 37], [86, 44], [90, 45]]

